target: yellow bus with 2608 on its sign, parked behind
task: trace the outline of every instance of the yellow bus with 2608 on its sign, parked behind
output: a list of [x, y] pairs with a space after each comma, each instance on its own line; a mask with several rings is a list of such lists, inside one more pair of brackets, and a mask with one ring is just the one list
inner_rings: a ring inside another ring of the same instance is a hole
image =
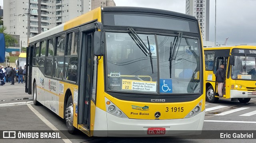
[[256, 46], [207, 47], [204, 48], [206, 100], [218, 102], [215, 72], [224, 65], [225, 79], [222, 98], [238, 99], [247, 103], [256, 98]]

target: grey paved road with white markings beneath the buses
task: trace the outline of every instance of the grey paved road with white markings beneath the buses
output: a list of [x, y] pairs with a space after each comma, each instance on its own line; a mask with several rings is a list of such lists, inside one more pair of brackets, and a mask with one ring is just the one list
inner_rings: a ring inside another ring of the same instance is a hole
[[[148, 142], [176, 142], [176, 143], [254, 143], [253, 139], [179, 139], [178, 137], [160, 138], [102, 138], [86, 137], [82, 132], [70, 135], [66, 131], [65, 121], [56, 116], [44, 106], [34, 106], [31, 95], [24, 92], [25, 84], [0, 86], [0, 125], [1, 130], [47, 130], [61, 131], [62, 138], [69, 139], [2, 139], [0, 143], [148, 143]], [[3, 100], [4, 99], [4, 100]], [[20, 100], [15, 100], [20, 99]], [[206, 103], [206, 116], [203, 130], [207, 135], [218, 132], [217, 130], [255, 130], [256, 128], [256, 100], [249, 104], [219, 100], [216, 104]], [[228, 132], [228, 131], [227, 131]], [[2, 135], [0, 133], [0, 135]], [[256, 136], [256, 133], [255, 135]], [[202, 136], [201, 136], [202, 137]], [[194, 137], [192, 137], [194, 138]], [[255, 137], [254, 137], [255, 139]]]

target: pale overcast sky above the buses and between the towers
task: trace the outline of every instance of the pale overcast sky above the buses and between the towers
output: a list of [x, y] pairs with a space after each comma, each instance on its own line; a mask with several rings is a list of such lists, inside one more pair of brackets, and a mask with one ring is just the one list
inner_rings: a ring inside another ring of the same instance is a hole
[[[137, 6], [185, 13], [186, 0], [114, 0], [116, 6]], [[3, 0], [0, 0], [3, 6]], [[227, 45], [256, 45], [256, 0], [217, 0], [216, 39]], [[210, 41], [214, 41], [215, 0], [210, 0]]]

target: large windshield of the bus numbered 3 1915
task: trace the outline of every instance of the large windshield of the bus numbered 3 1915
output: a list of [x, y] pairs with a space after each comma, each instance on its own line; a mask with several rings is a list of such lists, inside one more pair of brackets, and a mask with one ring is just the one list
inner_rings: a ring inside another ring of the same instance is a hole
[[[176, 42], [178, 35], [138, 36], [147, 47], [149, 43], [152, 62], [131, 33], [106, 32], [108, 91], [144, 94], [201, 92], [199, 38], [182, 36], [179, 44]], [[174, 50], [175, 43], [176, 51], [170, 51]]]

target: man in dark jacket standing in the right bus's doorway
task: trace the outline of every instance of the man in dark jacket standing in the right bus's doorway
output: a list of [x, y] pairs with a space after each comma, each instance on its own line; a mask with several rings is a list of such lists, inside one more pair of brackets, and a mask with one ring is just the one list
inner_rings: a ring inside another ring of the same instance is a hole
[[218, 94], [220, 97], [223, 97], [222, 95], [222, 88], [223, 88], [223, 83], [224, 83], [224, 65], [220, 65], [220, 68], [216, 71], [215, 73], [216, 76], [216, 82], [218, 82]]

